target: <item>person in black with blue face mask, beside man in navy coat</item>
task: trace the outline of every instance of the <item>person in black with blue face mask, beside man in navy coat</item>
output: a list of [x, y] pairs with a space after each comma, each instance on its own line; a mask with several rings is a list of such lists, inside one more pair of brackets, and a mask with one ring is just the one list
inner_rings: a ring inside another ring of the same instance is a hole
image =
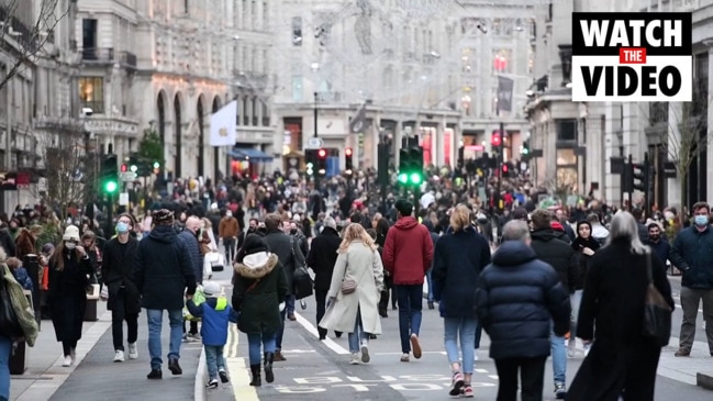
[[138, 337], [141, 296], [133, 276], [138, 241], [130, 232], [131, 225], [126, 218], [120, 218], [116, 223], [116, 236], [104, 244], [104, 255], [101, 259], [101, 277], [109, 293], [107, 309], [111, 311], [111, 335], [115, 363], [124, 361], [124, 321], [126, 321], [129, 359], [138, 358], [136, 338]]

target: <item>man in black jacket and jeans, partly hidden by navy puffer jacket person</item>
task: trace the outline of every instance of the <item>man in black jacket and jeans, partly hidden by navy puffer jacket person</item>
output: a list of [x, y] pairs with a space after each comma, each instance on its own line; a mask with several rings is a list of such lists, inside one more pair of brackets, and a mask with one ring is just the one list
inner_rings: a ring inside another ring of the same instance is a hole
[[[579, 271], [579, 258], [575, 249], [564, 241], [559, 240], [562, 236], [567, 240], [567, 234], [561, 231], [552, 229], [552, 213], [537, 209], [531, 215], [533, 232], [532, 244], [530, 245], [535, 252], [535, 256], [555, 268], [559, 276], [565, 291], [569, 291], [569, 282], [575, 282]], [[573, 291], [571, 291], [573, 292]], [[565, 346], [565, 337], [558, 336], [553, 333], [552, 338], [552, 354], [553, 354], [553, 377], [555, 379], [555, 397], [558, 400], [564, 400], [567, 396], [567, 347]]]

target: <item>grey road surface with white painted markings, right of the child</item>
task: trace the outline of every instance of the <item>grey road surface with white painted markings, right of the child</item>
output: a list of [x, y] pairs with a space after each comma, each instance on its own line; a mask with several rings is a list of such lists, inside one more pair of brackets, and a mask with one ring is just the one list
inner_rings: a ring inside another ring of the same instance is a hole
[[[218, 274], [216, 279], [225, 285], [230, 294], [226, 272]], [[676, 294], [679, 293], [680, 278], [671, 278]], [[677, 301], [678, 302], [678, 301]], [[426, 303], [424, 302], [424, 308]], [[421, 343], [423, 357], [411, 363], [401, 363], [398, 311], [389, 311], [382, 319], [383, 334], [369, 344], [371, 361], [367, 365], [349, 365], [346, 335], [317, 341], [314, 322], [314, 299], [308, 299], [308, 309], [299, 310], [296, 322], [287, 322], [282, 353], [287, 361], [276, 363], [276, 380], [272, 385], [263, 382], [260, 388], [250, 388], [247, 365], [247, 339], [244, 334], [236, 336], [232, 327], [226, 347], [232, 385], [208, 391], [208, 400], [333, 400], [343, 397], [388, 400], [436, 400], [448, 399], [450, 374], [443, 346], [443, 321], [437, 310], [423, 311]], [[673, 334], [679, 331], [680, 310], [673, 315]], [[678, 338], [661, 354], [659, 376], [656, 382], [656, 397], [659, 400], [710, 400], [711, 392], [695, 387], [695, 370], [706, 370], [713, 365], [708, 346], [700, 341], [705, 336], [702, 318], [699, 316], [697, 343], [690, 358], [675, 358]], [[498, 374], [494, 363], [488, 357], [489, 339], [483, 333], [480, 358], [476, 363], [474, 387], [476, 398], [494, 400], [498, 391]], [[568, 360], [567, 381], [571, 382], [581, 364], [583, 355], [578, 353]], [[552, 360], [548, 359], [545, 376], [545, 400], [554, 400]]]

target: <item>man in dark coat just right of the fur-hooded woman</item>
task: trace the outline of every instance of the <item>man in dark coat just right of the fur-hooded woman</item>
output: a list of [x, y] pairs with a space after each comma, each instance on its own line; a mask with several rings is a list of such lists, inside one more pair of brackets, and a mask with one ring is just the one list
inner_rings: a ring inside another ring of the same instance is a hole
[[[292, 254], [292, 238], [285, 234], [281, 229], [282, 219], [279, 214], [271, 213], [265, 216], [265, 229], [267, 234], [263, 238], [270, 249], [270, 253], [277, 255], [287, 278], [287, 299], [294, 302], [293, 279], [294, 279], [294, 255]], [[300, 252], [299, 247], [294, 247], [296, 252]], [[282, 335], [285, 334], [285, 319], [287, 309], [280, 311], [282, 316], [282, 327], [277, 332], [277, 339], [275, 346], [275, 361], [286, 360], [282, 356]], [[290, 316], [294, 320], [294, 316]]]

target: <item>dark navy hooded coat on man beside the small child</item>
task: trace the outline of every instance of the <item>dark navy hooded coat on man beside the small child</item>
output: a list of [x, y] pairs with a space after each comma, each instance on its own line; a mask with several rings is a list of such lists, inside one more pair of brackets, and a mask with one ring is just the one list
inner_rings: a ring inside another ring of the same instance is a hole
[[138, 243], [134, 282], [146, 309], [180, 310], [185, 293], [196, 293], [190, 252], [170, 225], [155, 226]]

